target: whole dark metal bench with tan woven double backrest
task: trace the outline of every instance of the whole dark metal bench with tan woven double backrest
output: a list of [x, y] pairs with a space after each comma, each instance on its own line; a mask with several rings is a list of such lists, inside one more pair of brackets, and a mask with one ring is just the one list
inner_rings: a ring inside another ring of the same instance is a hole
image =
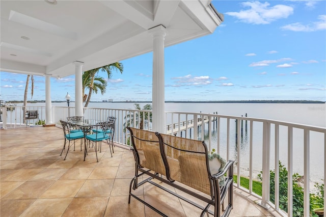
[[[208, 213], [214, 217], [229, 216], [233, 208], [233, 160], [228, 160], [221, 172], [211, 172], [214, 170], [210, 168], [208, 150], [204, 141], [131, 127], [127, 129], [130, 131], [131, 150], [135, 158], [135, 176], [129, 185], [128, 203], [130, 197], [133, 197], [160, 215], [168, 216], [138, 194], [134, 194], [135, 189], [150, 183], [200, 208], [201, 217]], [[146, 176], [139, 180], [143, 175]], [[223, 177], [224, 184], [220, 183]], [[153, 181], [154, 179], [158, 181]], [[171, 191], [166, 186], [162, 186], [162, 183], [202, 200], [206, 206], [198, 204], [188, 196]], [[224, 200], [226, 198], [228, 201]], [[210, 206], [213, 206], [212, 210], [209, 209]]]

